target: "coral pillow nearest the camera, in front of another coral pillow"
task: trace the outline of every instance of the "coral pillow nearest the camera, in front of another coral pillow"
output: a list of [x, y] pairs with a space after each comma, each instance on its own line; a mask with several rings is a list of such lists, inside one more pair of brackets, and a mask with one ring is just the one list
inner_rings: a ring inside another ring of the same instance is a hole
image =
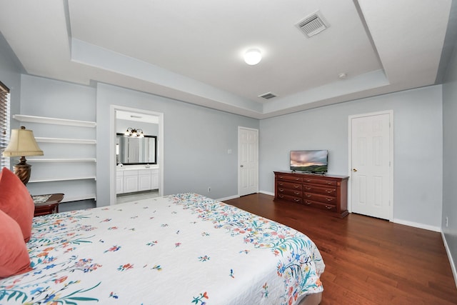
[[21, 228], [0, 211], [0, 278], [32, 270]]

